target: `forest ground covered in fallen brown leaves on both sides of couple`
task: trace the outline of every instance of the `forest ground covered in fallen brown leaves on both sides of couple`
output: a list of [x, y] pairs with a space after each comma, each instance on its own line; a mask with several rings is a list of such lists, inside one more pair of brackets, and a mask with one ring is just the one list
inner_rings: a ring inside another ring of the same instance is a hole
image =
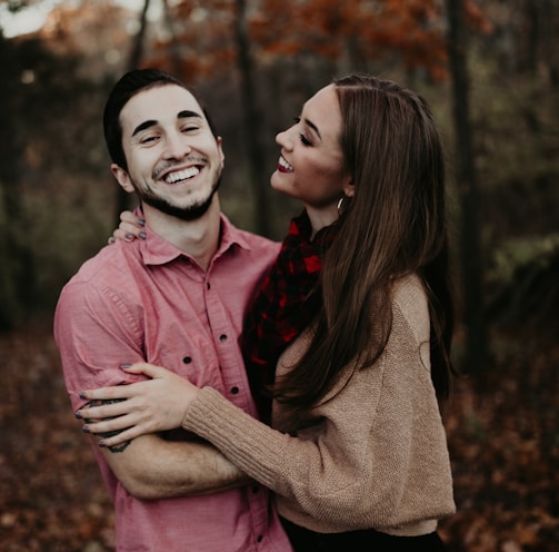
[[[493, 336], [496, 366], [446, 413], [458, 513], [450, 552], [559, 542], [559, 345]], [[66, 395], [50, 323], [0, 336], [0, 551], [108, 552], [112, 505]]]

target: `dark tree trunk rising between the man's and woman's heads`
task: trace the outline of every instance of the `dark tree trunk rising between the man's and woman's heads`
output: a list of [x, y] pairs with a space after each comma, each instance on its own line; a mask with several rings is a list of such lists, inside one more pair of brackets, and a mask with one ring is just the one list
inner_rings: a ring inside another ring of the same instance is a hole
[[237, 60], [241, 78], [241, 101], [244, 136], [249, 149], [250, 179], [256, 195], [256, 229], [263, 236], [270, 235], [269, 208], [267, 199], [268, 181], [264, 168], [264, 154], [260, 146], [262, 129], [257, 106], [250, 43], [247, 33], [247, 14], [244, 0], [237, 0], [237, 17], [234, 21], [237, 41]]

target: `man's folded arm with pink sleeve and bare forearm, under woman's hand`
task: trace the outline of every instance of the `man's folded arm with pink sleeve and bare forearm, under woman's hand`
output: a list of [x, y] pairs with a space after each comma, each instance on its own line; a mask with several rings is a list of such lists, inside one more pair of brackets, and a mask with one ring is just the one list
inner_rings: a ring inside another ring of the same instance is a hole
[[[98, 385], [134, 381], [119, 368], [120, 359], [142, 354], [141, 331], [130, 322], [138, 316], [126, 310], [126, 305], [89, 283], [69, 285], [62, 292], [54, 335], [74, 410], [83, 404], [79, 392], [96, 385], [99, 374]], [[217, 450], [200, 442], [166, 441], [153, 434], [119, 448], [101, 448], [102, 455], [124, 489], [139, 499], [208, 494], [249, 481]]]

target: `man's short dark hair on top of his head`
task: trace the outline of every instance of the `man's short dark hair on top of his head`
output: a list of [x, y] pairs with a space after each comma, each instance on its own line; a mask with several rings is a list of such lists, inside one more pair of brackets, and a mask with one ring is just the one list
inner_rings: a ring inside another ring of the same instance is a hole
[[188, 90], [200, 103], [203, 115], [208, 120], [210, 130], [212, 135], [217, 138], [218, 132], [213, 120], [208, 112], [204, 103], [196, 95], [196, 92], [187, 87], [184, 82], [159, 69], [134, 69], [124, 73], [120, 80], [114, 85], [107, 103], [104, 105], [103, 112], [103, 131], [104, 141], [107, 142], [107, 149], [111, 157], [112, 162], [116, 162], [119, 167], [128, 170], [128, 164], [124, 156], [124, 150], [122, 148], [122, 127], [120, 125], [120, 111], [128, 103], [128, 101], [142, 90], [149, 88], [176, 85], [184, 90]]

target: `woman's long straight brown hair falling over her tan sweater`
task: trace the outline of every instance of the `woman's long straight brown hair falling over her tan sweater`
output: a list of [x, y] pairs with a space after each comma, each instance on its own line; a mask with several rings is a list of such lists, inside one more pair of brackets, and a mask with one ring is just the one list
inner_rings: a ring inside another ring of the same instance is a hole
[[415, 273], [428, 295], [431, 377], [442, 400], [452, 373], [453, 306], [437, 126], [427, 103], [395, 82], [351, 75], [333, 83], [355, 195], [345, 199], [323, 259], [312, 341], [274, 396], [297, 414], [320, 403], [349, 363], [370, 366], [391, 331], [391, 284]]

